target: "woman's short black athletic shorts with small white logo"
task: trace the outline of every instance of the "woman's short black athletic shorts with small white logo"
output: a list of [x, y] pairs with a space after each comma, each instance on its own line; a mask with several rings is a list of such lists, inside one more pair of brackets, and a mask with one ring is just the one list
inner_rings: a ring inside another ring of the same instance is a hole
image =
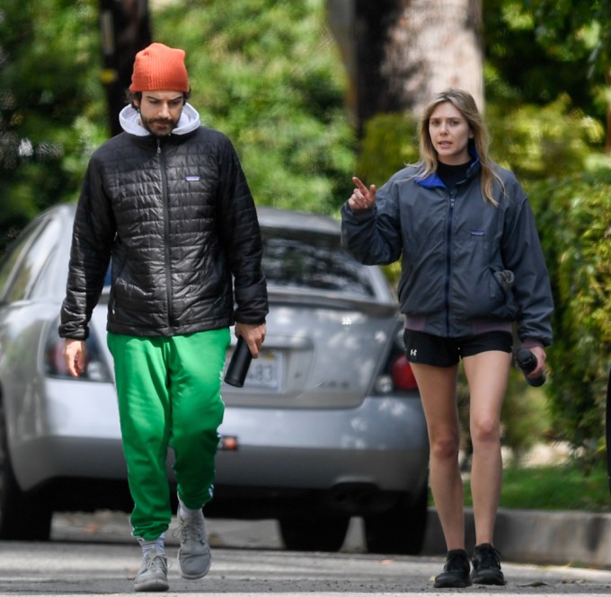
[[443, 338], [421, 331], [406, 329], [403, 332], [405, 356], [410, 363], [451, 367], [464, 356], [478, 355], [487, 350], [510, 353], [513, 338], [507, 331], [488, 331], [477, 336]]

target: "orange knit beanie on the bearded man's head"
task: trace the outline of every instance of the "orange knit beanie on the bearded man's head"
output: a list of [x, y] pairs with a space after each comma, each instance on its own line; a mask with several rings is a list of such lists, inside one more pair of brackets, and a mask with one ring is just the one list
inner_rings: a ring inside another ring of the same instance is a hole
[[152, 43], [140, 50], [134, 62], [130, 92], [188, 92], [184, 50]]

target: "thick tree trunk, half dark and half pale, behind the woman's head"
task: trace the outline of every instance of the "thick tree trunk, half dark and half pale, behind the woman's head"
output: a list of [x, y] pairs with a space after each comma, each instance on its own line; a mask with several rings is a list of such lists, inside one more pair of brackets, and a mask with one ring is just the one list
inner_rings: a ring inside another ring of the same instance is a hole
[[380, 112], [420, 116], [447, 87], [483, 110], [481, 0], [328, 0], [359, 136]]

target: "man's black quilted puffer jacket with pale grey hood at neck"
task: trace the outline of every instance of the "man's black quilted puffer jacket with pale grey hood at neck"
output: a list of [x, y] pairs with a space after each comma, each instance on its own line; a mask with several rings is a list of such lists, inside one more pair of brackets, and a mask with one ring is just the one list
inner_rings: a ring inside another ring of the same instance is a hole
[[261, 234], [233, 145], [199, 126], [189, 104], [161, 139], [126, 120], [126, 110], [121, 122], [135, 134], [103, 144], [87, 169], [59, 335], [87, 337], [111, 258], [111, 332], [174, 336], [262, 323]]

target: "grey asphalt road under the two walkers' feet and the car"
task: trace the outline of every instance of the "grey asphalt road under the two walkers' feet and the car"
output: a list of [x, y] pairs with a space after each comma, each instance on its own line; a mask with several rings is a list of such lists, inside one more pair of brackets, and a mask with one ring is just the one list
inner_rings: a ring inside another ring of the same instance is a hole
[[[175, 524], [173, 524], [175, 528]], [[213, 564], [199, 581], [183, 580], [175, 562], [178, 543], [168, 533], [168, 595], [208, 597], [273, 594], [289, 597], [315, 593], [344, 595], [447, 594], [435, 591], [431, 578], [442, 557], [377, 556], [362, 552], [355, 522], [339, 553], [299, 553], [281, 549], [275, 522], [208, 521]], [[8, 595], [129, 595], [139, 566], [139, 548], [129, 536], [127, 516], [55, 516], [47, 543], [0, 542], [0, 597]], [[611, 571], [568, 566], [527, 566], [503, 562], [504, 587], [476, 586], [459, 593], [611, 593]]]

